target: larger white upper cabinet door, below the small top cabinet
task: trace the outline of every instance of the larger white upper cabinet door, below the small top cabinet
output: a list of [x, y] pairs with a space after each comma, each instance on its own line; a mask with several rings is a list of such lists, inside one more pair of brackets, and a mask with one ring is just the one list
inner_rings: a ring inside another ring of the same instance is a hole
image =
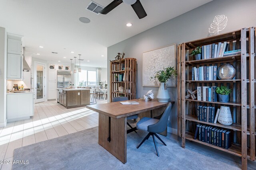
[[22, 56], [7, 53], [7, 79], [22, 79]]

